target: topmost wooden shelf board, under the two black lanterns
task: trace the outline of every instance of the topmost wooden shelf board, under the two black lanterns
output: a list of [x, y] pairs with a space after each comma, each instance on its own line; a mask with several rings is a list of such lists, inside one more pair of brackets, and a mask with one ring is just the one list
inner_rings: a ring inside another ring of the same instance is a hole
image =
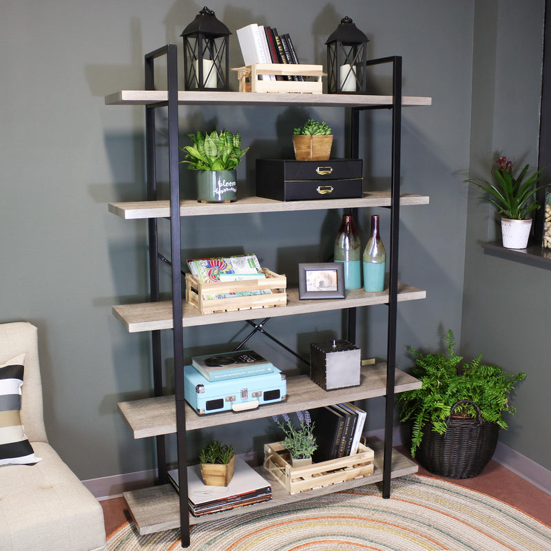
[[[252, 92], [178, 92], [178, 105], [225, 103], [229, 105], [320, 105], [324, 107], [391, 107], [393, 96], [360, 94], [274, 94]], [[166, 90], [121, 90], [105, 96], [105, 105], [156, 105], [167, 103]], [[402, 105], [431, 105], [430, 97], [402, 96]]]

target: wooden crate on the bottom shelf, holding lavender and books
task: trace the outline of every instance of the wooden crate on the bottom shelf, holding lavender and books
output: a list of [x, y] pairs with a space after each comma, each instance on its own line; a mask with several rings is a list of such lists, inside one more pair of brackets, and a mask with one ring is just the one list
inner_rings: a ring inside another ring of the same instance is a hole
[[373, 450], [360, 444], [355, 455], [293, 468], [283, 442], [264, 444], [264, 468], [271, 472], [290, 494], [371, 476], [373, 457]]

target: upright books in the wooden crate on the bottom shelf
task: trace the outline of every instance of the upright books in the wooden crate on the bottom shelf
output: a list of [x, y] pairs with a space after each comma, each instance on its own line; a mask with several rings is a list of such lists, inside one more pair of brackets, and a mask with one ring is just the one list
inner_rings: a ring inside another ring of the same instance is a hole
[[366, 412], [351, 402], [315, 410], [314, 436], [318, 449], [313, 461], [329, 461], [357, 453], [366, 422]]

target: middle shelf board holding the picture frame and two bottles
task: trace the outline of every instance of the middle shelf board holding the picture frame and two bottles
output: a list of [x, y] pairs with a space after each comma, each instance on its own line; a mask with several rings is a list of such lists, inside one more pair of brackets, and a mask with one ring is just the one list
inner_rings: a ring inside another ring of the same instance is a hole
[[[398, 283], [398, 302], [421, 300], [426, 298], [426, 291]], [[359, 306], [373, 306], [388, 302], [388, 289], [368, 293], [363, 289], [346, 291], [346, 298], [331, 300], [300, 300], [298, 289], [287, 289], [287, 306], [238, 310], [235, 312], [202, 314], [183, 301], [183, 326], [195, 327], [216, 323], [240, 322], [258, 318], [277, 318], [282, 315], [298, 315], [312, 312], [342, 310]], [[125, 326], [129, 333], [172, 329], [172, 302], [143, 302], [140, 304], [120, 304], [113, 306], [115, 317]]]

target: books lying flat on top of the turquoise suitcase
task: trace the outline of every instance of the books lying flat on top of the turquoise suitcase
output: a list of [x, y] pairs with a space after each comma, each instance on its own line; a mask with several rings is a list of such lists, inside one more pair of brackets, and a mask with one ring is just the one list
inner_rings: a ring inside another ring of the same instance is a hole
[[196, 356], [191, 358], [191, 364], [207, 381], [273, 373], [273, 364], [253, 350]]

